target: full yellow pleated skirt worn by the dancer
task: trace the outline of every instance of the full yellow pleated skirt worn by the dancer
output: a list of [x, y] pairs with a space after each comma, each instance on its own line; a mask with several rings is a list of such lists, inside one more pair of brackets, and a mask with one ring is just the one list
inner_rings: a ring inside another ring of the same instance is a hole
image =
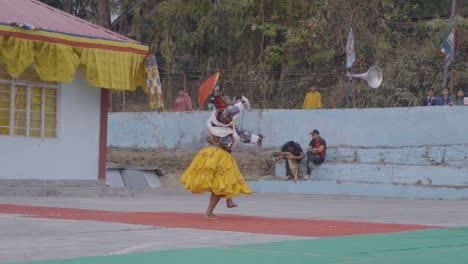
[[198, 152], [179, 182], [192, 193], [211, 192], [224, 198], [252, 193], [232, 155], [213, 146]]

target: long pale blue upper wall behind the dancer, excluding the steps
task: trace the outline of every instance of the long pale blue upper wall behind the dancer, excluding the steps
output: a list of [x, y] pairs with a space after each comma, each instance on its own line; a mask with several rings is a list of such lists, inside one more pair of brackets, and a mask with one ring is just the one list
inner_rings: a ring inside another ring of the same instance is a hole
[[[206, 144], [210, 112], [111, 113], [108, 144], [174, 148]], [[288, 140], [306, 145], [313, 128], [329, 146], [402, 147], [468, 143], [468, 107], [382, 109], [253, 110], [238, 123], [266, 135], [265, 147]]]

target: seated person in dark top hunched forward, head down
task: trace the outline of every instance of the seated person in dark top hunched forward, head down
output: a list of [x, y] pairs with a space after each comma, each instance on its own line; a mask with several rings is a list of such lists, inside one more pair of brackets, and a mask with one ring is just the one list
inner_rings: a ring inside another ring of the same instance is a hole
[[304, 159], [304, 156], [304, 151], [299, 143], [288, 141], [281, 148], [281, 152], [275, 154], [275, 160], [285, 159], [288, 180], [297, 181], [301, 177], [298, 162]]

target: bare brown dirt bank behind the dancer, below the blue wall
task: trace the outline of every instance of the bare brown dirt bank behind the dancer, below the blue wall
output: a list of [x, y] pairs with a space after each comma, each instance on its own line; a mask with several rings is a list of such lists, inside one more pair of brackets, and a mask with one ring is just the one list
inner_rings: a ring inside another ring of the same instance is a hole
[[[107, 149], [107, 161], [123, 165], [158, 167], [164, 187], [181, 188], [179, 177], [187, 169], [200, 149]], [[235, 149], [232, 155], [246, 180], [272, 179], [274, 162], [271, 149]]]

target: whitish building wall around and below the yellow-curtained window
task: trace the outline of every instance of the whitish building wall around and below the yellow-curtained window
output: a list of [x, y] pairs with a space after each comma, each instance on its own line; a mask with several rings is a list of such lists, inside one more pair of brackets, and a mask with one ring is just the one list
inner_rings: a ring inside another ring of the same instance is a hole
[[0, 179], [97, 180], [100, 95], [78, 70], [60, 88], [57, 139], [0, 136]]

